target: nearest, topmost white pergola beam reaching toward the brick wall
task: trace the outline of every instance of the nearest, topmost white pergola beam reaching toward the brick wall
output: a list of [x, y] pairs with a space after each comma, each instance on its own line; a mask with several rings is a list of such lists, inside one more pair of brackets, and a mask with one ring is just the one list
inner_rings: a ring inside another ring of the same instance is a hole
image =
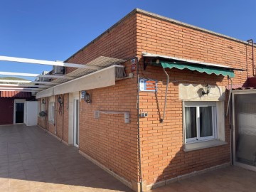
[[1, 55], [0, 55], [0, 60], [18, 62], [18, 63], [39, 64], [39, 65], [55, 65], [55, 66], [70, 67], [70, 68], [85, 68], [85, 69], [92, 69], [92, 70], [102, 69], [101, 67], [97, 67], [93, 65], [82, 65], [82, 64], [75, 64], [75, 63], [64, 63], [61, 61], [37, 60], [37, 59], [28, 59], [28, 58], [15, 58], [15, 57], [7, 57], [7, 56], [1, 56]]

